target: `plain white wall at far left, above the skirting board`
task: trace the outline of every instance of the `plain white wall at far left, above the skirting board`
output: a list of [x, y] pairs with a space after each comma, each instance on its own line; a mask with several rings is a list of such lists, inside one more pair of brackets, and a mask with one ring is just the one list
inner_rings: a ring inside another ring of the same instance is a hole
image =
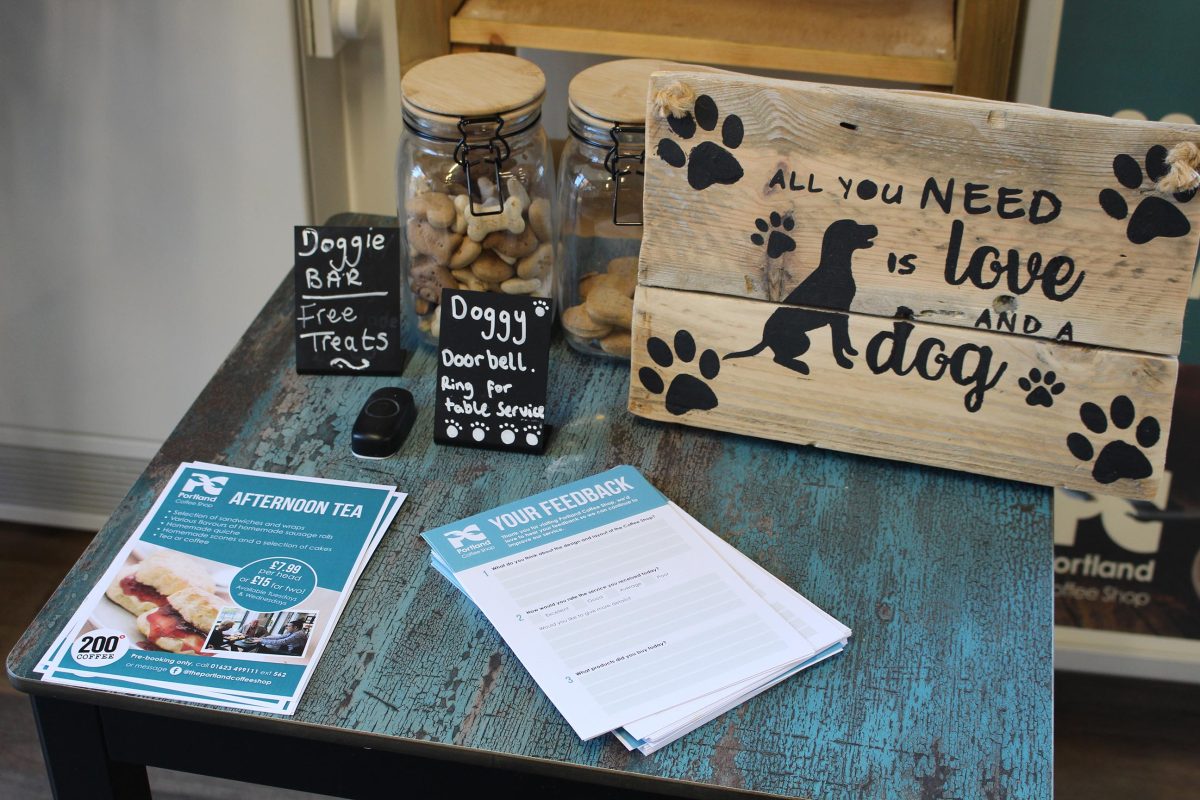
[[288, 0], [0, 5], [0, 444], [149, 456], [307, 222]]

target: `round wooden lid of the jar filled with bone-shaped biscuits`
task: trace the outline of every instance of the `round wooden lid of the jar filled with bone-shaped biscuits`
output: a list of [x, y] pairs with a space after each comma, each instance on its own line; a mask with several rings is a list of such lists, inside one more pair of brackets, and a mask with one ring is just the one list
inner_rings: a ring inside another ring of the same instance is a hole
[[404, 109], [439, 122], [464, 116], [515, 119], [534, 110], [546, 76], [533, 61], [503, 53], [455, 53], [421, 61], [400, 82]]

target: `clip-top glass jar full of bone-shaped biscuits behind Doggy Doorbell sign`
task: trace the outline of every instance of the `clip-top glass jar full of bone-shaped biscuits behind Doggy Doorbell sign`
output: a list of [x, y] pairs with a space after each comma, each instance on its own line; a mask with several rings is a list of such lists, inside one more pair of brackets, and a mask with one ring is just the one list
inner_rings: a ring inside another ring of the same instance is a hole
[[396, 158], [404, 315], [437, 343], [443, 289], [548, 297], [554, 167], [546, 78], [499, 53], [443, 55], [401, 80]]

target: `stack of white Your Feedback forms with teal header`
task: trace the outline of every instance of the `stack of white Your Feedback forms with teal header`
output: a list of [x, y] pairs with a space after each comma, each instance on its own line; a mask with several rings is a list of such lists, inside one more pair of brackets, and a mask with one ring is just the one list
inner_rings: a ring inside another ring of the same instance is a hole
[[643, 754], [850, 638], [632, 467], [424, 537], [581, 739]]

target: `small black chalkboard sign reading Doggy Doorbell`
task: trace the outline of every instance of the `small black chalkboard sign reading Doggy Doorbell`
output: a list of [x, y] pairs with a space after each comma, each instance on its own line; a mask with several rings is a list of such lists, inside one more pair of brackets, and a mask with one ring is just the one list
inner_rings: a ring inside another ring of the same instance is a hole
[[545, 451], [551, 301], [445, 289], [442, 309], [434, 441]]

